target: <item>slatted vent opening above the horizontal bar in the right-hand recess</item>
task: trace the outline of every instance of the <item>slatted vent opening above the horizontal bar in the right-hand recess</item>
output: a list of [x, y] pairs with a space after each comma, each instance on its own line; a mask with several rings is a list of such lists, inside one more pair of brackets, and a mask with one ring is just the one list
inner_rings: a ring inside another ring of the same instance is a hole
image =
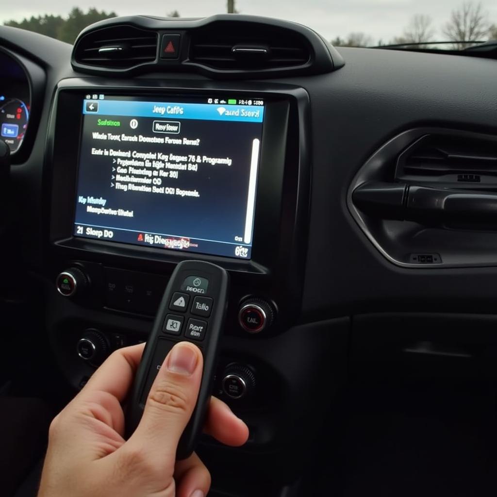
[[399, 156], [395, 177], [407, 183], [497, 187], [497, 143], [460, 134], [425, 135]]

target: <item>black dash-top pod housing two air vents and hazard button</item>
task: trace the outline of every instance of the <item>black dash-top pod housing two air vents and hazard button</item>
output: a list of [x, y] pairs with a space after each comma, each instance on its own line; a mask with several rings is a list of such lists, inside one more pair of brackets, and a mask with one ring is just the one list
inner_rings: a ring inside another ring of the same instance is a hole
[[[158, 44], [172, 35], [179, 49], [174, 57], [159, 57]], [[98, 21], [78, 36], [71, 63], [79, 73], [100, 76], [174, 72], [246, 80], [327, 74], [344, 65], [335, 48], [312, 29], [243, 14]]]

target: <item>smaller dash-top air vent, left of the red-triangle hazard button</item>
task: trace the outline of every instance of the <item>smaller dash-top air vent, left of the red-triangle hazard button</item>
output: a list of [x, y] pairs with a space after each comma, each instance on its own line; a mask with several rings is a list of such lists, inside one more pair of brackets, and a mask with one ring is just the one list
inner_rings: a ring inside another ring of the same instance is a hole
[[154, 62], [157, 33], [118, 25], [83, 34], [74, 49], [77, 64], [86, 67], [130, 69]]

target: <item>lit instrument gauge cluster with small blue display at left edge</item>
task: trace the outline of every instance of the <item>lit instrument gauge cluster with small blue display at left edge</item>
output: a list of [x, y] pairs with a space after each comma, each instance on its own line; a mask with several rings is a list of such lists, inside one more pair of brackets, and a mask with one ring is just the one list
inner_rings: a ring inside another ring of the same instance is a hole
[[0, 52], [0, 138], [14, 154], [22, 146], [30, 114], [30, 87], [22, 66]]

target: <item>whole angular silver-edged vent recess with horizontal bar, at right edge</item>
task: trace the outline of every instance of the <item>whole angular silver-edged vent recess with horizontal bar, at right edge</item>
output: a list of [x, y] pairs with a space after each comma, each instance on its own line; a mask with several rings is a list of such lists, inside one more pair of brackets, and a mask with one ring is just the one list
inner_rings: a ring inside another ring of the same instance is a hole
[[497, 135], [404, 131], [359, 169], [347, 206], [394, 264], [497, 267]]

